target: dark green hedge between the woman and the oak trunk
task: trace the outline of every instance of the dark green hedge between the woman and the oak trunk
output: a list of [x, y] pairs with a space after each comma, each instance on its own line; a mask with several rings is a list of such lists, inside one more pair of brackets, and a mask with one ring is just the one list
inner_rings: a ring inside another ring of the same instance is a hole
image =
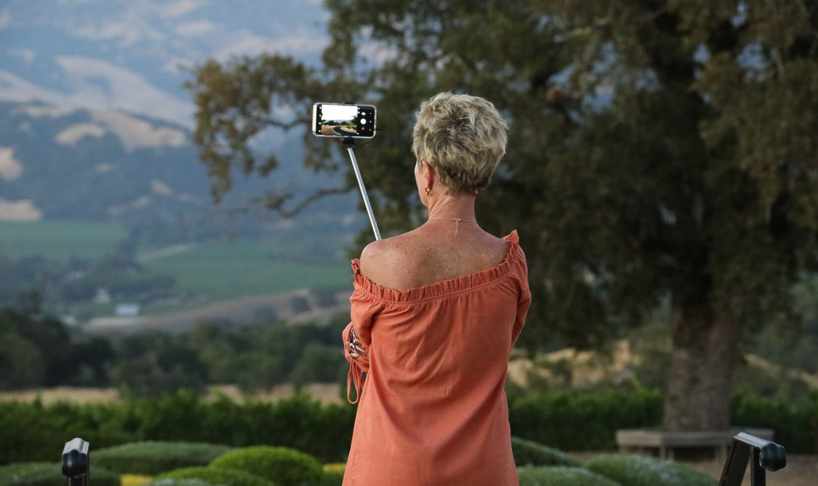
[[528, 394], [510, 403], [509, 421], [515, 436], [551, 447], [613, 450], [616, 430], [658, 425], [662, 407], [662, 394], [655, 390], [555, 390]]

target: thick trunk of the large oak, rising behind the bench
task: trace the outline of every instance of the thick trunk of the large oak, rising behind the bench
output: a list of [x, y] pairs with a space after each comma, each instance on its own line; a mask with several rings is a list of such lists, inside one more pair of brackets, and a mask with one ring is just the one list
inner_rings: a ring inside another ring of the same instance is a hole
[[706, 297], [672, 298], [672, 357], [663, 427], [671, 431], [730, 428], [730, 389], [738, 326]]

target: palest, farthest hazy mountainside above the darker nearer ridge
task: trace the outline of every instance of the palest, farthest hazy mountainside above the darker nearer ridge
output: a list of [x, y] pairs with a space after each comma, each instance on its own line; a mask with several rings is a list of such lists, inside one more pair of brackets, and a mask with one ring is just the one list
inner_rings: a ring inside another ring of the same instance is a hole
[[281, 52], [317, 61], [317, 1], [0, 2], [0, 100], [111, 109], [190, 128], [181, 85], [209, 57]]

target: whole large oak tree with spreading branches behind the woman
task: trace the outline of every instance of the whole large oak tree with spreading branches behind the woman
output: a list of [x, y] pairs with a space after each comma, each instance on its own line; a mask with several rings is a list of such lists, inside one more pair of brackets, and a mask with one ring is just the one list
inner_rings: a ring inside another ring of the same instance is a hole
[[[380, 226], [405, 231], [422, 221], [409, 151], [416, 106], [443, 90], [487, 97], [510, 140], [479, 218], [493, 232], [519, 229], [534, 295], [523, 339], [599, 344], [668, 297], [664, 425], [726, 429], [740, 343], [787, 317], [790, 287], [816, 268], [818, 2], [326, 8], [319, 68], [281, 54], [197, 67], [189, 88], [213, 195], [235, 170], [276, 167], [248, 145], [264, 129], [307, 127], [313, 101], [374, 102], [380, 130], [358, 158]], [[304, 164], [344, 168], [326, 141], [305, 144]], [[347, 173], [326, 193], [353, 187]], [[299, 207], [291, 197], [267, 203], [286, 213]]]

